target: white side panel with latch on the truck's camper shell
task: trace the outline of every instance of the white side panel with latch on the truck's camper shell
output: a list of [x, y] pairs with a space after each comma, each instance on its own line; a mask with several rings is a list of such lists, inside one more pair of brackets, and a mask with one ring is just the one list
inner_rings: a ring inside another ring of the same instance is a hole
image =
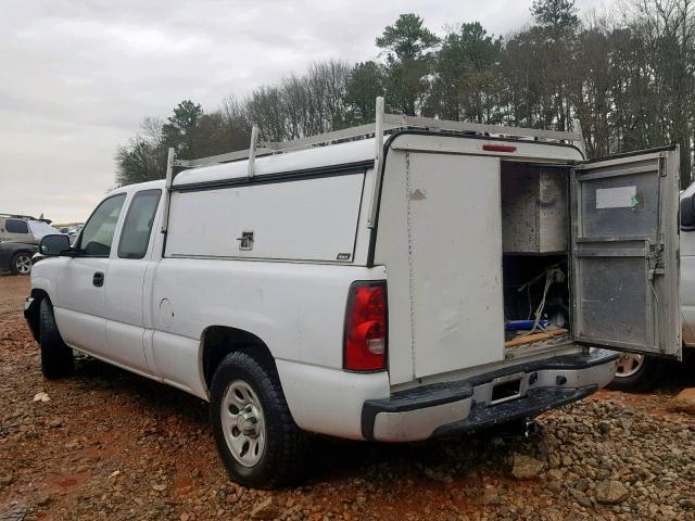
[[[172, 195], [166, 256], [353, 260], [364, 173]], [[253, 249], [238, 238], [254, 233]]]

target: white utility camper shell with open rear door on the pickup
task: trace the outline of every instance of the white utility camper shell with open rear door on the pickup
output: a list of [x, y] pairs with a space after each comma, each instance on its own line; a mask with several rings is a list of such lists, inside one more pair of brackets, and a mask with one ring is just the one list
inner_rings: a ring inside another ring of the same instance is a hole
[[[592, 345], [678, 355], [678, 316], [668, 305], [678, 294], [678, 271], [673, 257], [653, 253], [666, 251], [654, 242], [678, 238], [675, 227], [659, 229], [678, 207], [666, 196], [678, 186], [677, 171], [664, 175], [667, 164], [677, 165], [673, 150], [584, 162], [579, 149], [543, 141], [419, 129], [384, 140], [380, 183], [374, 179], [375, 138], [258, 157], [251, 178], [243, 161], [182, 171], [173, 183], [165, 255], [384, 266], [394, 389], [469, 373], [525, 351], [505, 351], [504, 342], [510, 317], [503, 266], [515, 255], [566, 258], [568, 294], [574, 296], [567, 304], [579, 329], [571, 327], [565, 340], [581, 334]], [[376, 185], [380, 198], [370, 227], [369, 188]], [[635, 204], [628, 192], [642, 199]], [[582, 194], [593, 199], [582, 203]], [[610, 229], [581, 237], [586, 228], [570, 223], [581, 219], [582, 204], [590, 224], [609, 215]], [[616, 227], [620, 221], [643, 229], [628, 233]], [[247, 247], [244, 233], [252, 237]], [[671, 266], [658, 268], [660, 309], [653, 302], [658, 262]], [[580, 274], [582, 284], [574, 280]], [[596, 300], [596, 291], [606, 294]], [[635, 314], [635, 303], [642, 313]], [[660, 321], [666, 326], [659, 328]], [[576, 345], [542, 344], [552, 351]]]

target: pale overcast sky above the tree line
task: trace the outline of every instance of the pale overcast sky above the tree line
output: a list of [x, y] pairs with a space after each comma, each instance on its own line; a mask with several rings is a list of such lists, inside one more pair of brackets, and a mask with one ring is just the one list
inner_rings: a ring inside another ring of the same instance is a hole
[[[114, 186], [114, 151], [144, 116], [228, 94], [314, 61], [374, 59], [415, 12], [437, 33], [530, 22], [531, 0], [2, 0], [0, 213], [83, 221]], [[582, 13], [612, 0], [577, 0]]]

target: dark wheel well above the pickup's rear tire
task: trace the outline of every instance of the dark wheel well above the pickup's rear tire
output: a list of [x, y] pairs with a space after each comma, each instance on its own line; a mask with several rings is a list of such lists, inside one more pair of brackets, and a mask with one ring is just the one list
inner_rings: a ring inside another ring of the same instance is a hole
[[242, 329], [211, 326], [203, 333], [202, 348], [203, 376], [208, 390], [219, 363], [229, 353], [238, 351], [249, 354], [277, 376], [275, 358], [268, 346], [258, 336]]

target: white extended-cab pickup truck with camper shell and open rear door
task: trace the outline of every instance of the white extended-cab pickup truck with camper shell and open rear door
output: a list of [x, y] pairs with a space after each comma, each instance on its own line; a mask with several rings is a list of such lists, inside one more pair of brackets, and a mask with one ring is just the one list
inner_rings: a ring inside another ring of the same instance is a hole
[[452, 436], [608, 384], [618, 355], [592, 346], [678, 357], [678, 150], [584, 161], [579, 139], [378, 110], [170, 152], [166, 181], [112, 191], [72, 247], [41, 242], [43, 374], [77, 350], [200, 396], [230, 476], [271, 487], [307, 433]]

